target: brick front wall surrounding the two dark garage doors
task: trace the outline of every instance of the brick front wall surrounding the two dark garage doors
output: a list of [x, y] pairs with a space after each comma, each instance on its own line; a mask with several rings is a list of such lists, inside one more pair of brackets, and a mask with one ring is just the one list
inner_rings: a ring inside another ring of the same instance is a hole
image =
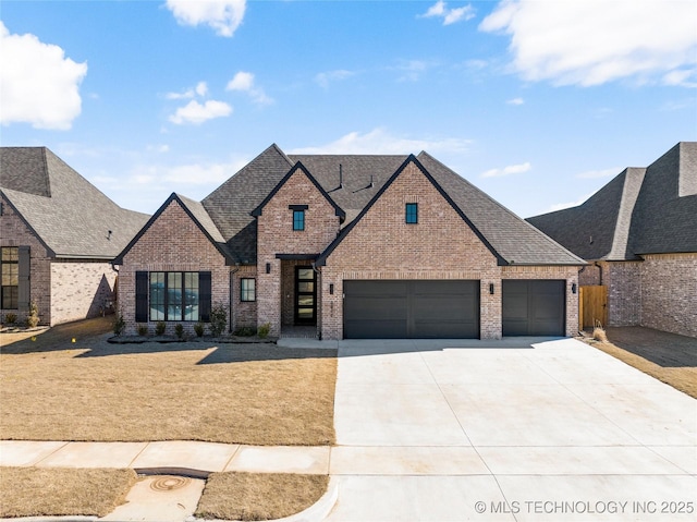
[[[405, 204], [418, 203], [418, 223], [405, 223]], [[501, 337], [501, 279], [577, 281], [577, 267], [499, 267], [457, 213], [414, 165], [407, 166], [333, 251], [322, 267], [322, 339], [343, 335], [343, 281], [348, 279], [474, 279], [480, 281], [480, 336]], [[333, 295], [329, 286], [334, 284]], [[494, 284], [494, 294], [489, 293]], [[577, 295], [567, 291], [567, 335], [577, 321]]]

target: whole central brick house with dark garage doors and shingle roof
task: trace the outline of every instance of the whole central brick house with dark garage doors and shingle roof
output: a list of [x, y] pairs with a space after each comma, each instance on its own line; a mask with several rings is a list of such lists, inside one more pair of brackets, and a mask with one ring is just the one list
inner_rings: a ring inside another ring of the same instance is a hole
[[114, 259], [127, 330], [211, 305], [321, 339], [571, 336], [585, 263], [426, 153], [271, 145], [201, 202], [172, 194]]

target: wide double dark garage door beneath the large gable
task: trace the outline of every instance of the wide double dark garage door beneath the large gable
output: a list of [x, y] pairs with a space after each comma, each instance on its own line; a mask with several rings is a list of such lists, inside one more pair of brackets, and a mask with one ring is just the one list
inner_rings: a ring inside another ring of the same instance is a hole
[[346, 339], [476, 339], [479, 281], [344, 281]]

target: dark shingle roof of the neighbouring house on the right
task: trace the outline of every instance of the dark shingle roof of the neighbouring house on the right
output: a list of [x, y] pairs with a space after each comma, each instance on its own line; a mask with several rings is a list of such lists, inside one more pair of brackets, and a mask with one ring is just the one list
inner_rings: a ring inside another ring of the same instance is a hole
[[584, 259], [697, 252], [697, 143], [625, 169], [577, 207], [527, 220]]

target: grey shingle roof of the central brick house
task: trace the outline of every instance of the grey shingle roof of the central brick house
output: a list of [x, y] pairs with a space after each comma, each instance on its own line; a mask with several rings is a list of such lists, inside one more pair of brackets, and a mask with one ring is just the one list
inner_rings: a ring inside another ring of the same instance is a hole
[[341, 239], [399, 175], [407, 160], [418, 163], [501, 265], [584, 264], [427, 153], [420, 153], [418, 158], [407, 155], [285, 155], [273, 144], [200, 204], [178, 197], [217, 247], [225, 253], [228, 263], [256, 264], [255, 216], [296, 169], [303, 170], [342, 218]]

